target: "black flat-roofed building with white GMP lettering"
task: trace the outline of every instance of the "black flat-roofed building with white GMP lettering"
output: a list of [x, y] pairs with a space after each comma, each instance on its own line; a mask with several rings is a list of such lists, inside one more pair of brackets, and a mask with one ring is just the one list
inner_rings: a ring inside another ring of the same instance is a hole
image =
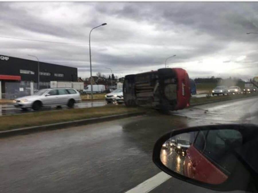
[[[39, 62], [40, 88], [49, 87], [50, 81], [77, 81], [77, 68]], [[38, 83], [38, 61], [0, 55], [2, 92], [5, 82]]]

